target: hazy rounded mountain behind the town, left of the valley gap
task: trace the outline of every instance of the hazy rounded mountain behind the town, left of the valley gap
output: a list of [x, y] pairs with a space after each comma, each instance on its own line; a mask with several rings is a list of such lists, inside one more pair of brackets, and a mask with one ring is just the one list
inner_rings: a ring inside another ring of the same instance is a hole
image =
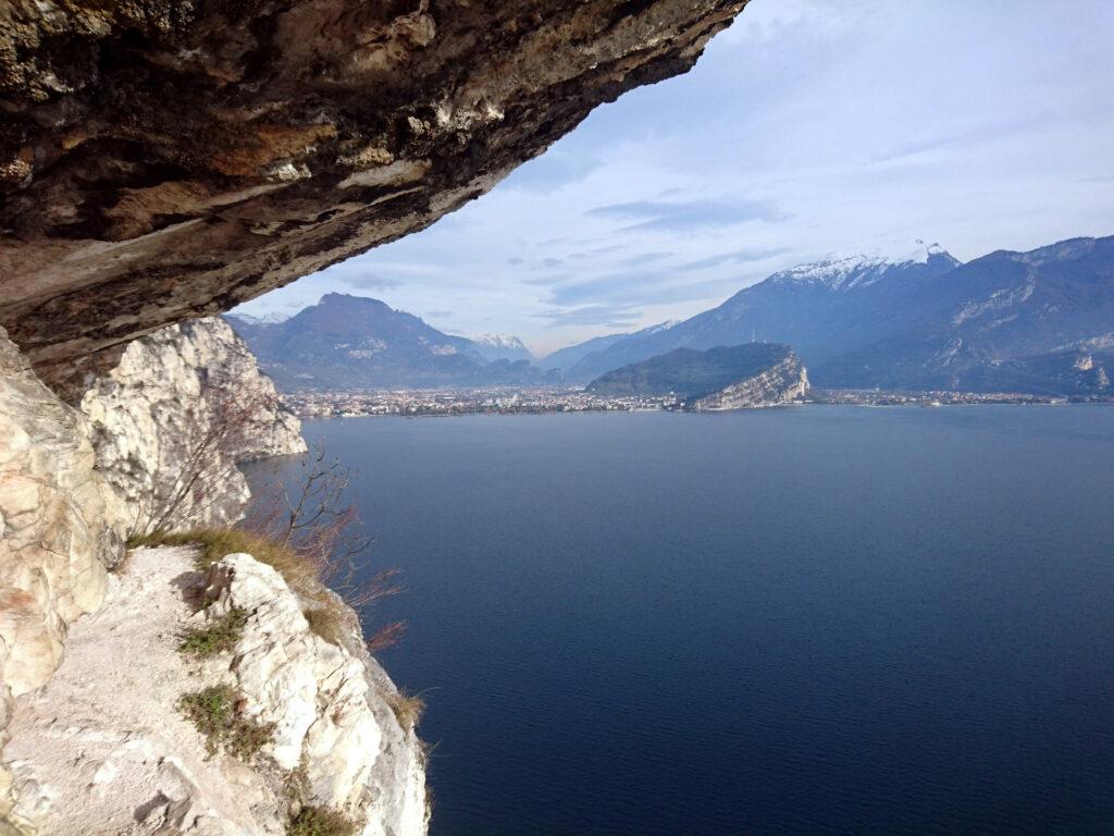
[[364, 297], [329, 293], [277, 323], [227, 319], [287, 391], [556, 382], [525, 360], [489, 362], [470, 340]]

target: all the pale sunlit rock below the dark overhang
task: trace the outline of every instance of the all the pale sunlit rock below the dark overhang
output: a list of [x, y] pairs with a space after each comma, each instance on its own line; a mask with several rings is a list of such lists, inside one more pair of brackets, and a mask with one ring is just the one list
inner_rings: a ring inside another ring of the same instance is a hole
[[[80, 409], [0, 332], [0, 834], [280, 836], [299, 816], [424, 833], [412, 717], [310, 566], [292, 584], [247, 554], [125, 552], [227, 525], [238, 461], [304, 449], [221, 320], [133, 342]], [[214, 631], [222, 652], [183, 654]], [[251, 747], [213, 746], [190, 694], [225, 699]]]

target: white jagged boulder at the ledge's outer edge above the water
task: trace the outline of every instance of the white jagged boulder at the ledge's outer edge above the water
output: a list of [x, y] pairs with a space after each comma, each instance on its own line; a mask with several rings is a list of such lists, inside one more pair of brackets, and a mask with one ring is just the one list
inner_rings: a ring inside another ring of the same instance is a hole
[[275, 725], [268, 751], [278, 766], [301, 765], [312, 803], [342, 810], [364, 836], [424, 833], [424, 757], [395, 718], [394, 686], [363, 650], [354, 618], [353, 641], [325, 641], [282, 576], [246, 554], [214, 564], [208, 580], [215, 603], [205, 618], [251, 614], [232, 673], [248, 713]]

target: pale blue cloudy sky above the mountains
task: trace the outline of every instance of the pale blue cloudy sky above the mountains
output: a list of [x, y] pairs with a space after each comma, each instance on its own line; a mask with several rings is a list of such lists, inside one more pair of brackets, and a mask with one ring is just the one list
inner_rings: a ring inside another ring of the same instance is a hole
[[430, 230], [243, 305], [382, 299], [536, 353], [827, 254], [1114, 234], [1114, 3], [753, 0]]

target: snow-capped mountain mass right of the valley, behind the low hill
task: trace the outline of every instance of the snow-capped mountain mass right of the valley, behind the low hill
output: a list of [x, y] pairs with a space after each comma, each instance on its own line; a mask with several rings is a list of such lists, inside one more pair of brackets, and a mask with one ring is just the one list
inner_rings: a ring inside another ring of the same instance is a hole
[[[805, 264], [666, 331], [585, 352], [566, 377], [583, 382], [675, 348], [754, 339], [791, 343], [819, 387], [1107, 391], [1114, 237], [967, 264], [936, 246]], [[1082, 369], [1088, 362], [1093, 372]]]

